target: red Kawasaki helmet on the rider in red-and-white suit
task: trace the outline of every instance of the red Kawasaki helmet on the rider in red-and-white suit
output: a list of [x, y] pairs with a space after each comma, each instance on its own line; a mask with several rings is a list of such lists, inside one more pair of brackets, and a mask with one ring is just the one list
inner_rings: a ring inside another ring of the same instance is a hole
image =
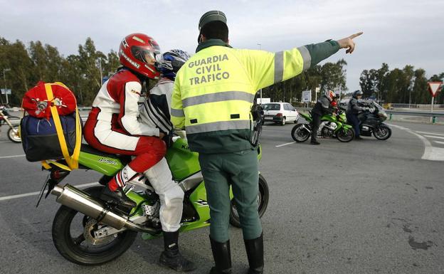
[[160, 57], [159, 44], [145, 34], [129, 34], [120, 43], [120, 63], [137, 73], [147, 76], [147, 78], [159, 78], [160, 73], [154, 64]]

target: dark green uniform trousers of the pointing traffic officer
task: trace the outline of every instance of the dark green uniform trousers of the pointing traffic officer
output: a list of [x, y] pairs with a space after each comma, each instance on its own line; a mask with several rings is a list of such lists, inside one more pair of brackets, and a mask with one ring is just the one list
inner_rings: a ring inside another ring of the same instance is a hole
[[258, 150], [199, 154], [199, 163], [210, 206], [211, 238], [219, 243], [230, 238], [230, 185], [233, 188], [243, 238], [258, 238], [262, 233], [258, 215]]

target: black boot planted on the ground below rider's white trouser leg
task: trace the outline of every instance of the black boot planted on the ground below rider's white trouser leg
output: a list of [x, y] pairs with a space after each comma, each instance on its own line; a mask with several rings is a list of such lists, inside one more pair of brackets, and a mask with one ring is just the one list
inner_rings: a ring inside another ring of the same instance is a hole
[[179, 231], [163, 231], [163, 233], [165, 250], [160, 254], [159, 265], [174, 269], [177, 272], [195, 270], [196, 265], [179, 253]]

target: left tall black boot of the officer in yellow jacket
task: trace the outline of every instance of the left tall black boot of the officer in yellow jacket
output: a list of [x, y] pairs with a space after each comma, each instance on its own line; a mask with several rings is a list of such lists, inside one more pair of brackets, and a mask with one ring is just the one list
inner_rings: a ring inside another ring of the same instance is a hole
[[214, 263], [210, 274], [231, 274], [231, 251], [230, 241], [219, 243], [210, 236], [211, 251], [213, 251]]

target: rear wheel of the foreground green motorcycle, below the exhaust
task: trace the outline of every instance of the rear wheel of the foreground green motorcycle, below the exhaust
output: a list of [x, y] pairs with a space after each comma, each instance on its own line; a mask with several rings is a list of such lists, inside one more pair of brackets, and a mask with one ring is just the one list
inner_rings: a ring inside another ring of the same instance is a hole
[[[84, 191], [91, 196], [97, 197], [100, 196], [102, 188], [103, 186], [93, 186]], [[100, 265], [114, 260], [127, 251], [137, 236], [137, 232], [126, 230], [108, 236], [104, 239], [107, 241], [103, 245], [93, 245], [88, 240], [85, 240], [85, 231], [82, 231], [80, 235], [78, 235], [79, 233], [73, 235], [73, 228], [71, 227], [73, 220], [76, 220], [75, 225], [78, 228], [80, 226], [85, 228], [88, 222], [94, 221], [74, 209], [60, 206], [53, 221], [53, 243], [60, 255], [79, 265]], [[78, 230], [81, 231], [82, 229]]]

